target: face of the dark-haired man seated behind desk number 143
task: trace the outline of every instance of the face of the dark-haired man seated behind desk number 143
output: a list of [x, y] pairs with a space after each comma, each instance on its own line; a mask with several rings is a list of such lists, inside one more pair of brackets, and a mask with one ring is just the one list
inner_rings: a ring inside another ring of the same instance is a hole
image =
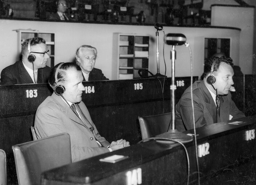
[[232, 79], [233, 75], [233, 68], [229, 64], [220, 63], [217, 75], [215, 75], [216, 81], [213, 84], [219, 95], [228, 94], [231, 85], [234, 84]]

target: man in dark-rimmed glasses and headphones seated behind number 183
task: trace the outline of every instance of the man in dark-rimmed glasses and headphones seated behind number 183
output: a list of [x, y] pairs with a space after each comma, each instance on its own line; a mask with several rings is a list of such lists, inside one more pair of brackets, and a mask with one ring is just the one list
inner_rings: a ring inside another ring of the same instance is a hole
[[49, 50], [40, 37], [22, 43], [21, 60], [1, 72], [1, 85], [47, 83], [50, 67], [46, 66]]

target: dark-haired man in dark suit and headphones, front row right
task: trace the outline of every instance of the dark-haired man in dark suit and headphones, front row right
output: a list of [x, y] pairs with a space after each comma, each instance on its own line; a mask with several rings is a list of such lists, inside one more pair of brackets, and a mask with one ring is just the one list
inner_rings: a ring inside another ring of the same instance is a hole
[[[234, 71], [231, 58], [213, 57], [204, 63], [203, 80], [192, 86], [195, 127], [245, 117], [231, 99]], [[176, 129], [193, 129], [190, 87], [176, 104]]]

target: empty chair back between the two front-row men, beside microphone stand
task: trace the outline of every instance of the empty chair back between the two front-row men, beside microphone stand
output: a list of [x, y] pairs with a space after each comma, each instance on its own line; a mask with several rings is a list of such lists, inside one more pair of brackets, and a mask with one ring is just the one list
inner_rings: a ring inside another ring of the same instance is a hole
[[142, 139], [155, 137], [158, 134], [166, 133], [171, 124], [171, 113], [139, 116]]

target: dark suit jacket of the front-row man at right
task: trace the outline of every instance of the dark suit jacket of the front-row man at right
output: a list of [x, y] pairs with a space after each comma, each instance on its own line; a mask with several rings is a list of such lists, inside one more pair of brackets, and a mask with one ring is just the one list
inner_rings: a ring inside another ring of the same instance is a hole
[[[244, 113], [239, 111], [231, 99], [229, 92], [225, 96], [220, 96], [220, 117], [216, 120], [216, 105], [203, 81], [195, 81], [192, 85], [195, 126], [201, 127], [216, 122], [229, 121], [229, 115], [232, 119], [245, 117]], [[178, 104], [176, 104], [176, 129], [179, 131], [193, 129], [193, 116], [191, 105], [190, 87], [182, 94]]]

